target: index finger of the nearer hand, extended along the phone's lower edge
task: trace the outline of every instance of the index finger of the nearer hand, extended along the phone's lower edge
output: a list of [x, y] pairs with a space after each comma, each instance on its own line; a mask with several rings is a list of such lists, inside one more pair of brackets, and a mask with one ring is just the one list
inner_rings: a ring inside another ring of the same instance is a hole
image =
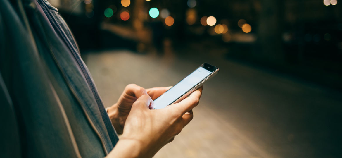
[[189, 97], [185, 98], [181, 102], [173, 104], [172, 107], [176, 107], [178, 109], [178, 111], [176, 111], [177, 113], [180, 113], [181, 115], [185, 114], [187, 111], [190, 111], [198, 105], [199, 99], [202, 95], [202, 90], [203, 86], [191, 93]]

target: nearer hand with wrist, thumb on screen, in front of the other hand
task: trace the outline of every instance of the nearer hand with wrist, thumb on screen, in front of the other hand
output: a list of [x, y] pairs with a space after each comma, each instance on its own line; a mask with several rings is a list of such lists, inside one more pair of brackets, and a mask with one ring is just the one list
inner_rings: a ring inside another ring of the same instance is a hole
[[123, 134], [108, 156], [152, 157], [171, 142], [193, 118], [202, 87], [183, 101], [162, 109], [150, 110], [152, 98], [142, 95], [134, 102], [127, 117]]

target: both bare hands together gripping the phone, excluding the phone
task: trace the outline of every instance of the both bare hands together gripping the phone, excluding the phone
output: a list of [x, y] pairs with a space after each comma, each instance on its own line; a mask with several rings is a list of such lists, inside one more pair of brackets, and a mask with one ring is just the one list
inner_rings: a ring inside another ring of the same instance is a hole
[[162, 109], [153, 109], [153, 100], [171, 87], [144, 89], [129, 84], [118, 103], [108, 109], [114, 128], [122, 136], [107, 157], [153, 157], [171, 142], [192, 120], [203, 87], [183, 101]]

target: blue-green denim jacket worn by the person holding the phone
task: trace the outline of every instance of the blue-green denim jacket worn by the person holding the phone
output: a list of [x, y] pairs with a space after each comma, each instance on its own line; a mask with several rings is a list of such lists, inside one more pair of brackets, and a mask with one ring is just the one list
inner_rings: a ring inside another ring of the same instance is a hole
[[118, 136], [63, 18], [46, 0], [0, 0], [4, 157], [104, 157]]

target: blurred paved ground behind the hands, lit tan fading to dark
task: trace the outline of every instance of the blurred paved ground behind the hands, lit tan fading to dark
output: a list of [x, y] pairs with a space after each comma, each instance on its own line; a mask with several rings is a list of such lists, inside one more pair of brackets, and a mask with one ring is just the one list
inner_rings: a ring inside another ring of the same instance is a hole
[[127, 84], [170, 86], [203, 62], [220, 68], [204, 85], [192, 122], [155, 158], [342, 157], [341, 92], [219, 54], [158, 56], [115, 50], [82, 57], [106, 107]]

